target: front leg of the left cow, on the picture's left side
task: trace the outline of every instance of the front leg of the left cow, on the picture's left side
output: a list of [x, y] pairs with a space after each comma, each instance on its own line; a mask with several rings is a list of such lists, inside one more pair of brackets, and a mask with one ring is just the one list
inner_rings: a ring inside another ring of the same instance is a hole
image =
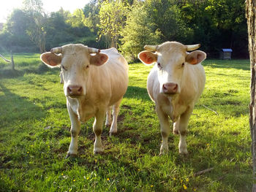
[[66, 158], [78, 155], [78, 134], [80, 133], [80, 121], [78, 120], [78, 115], [72, 111], [69, 105], [67, 106], [67, 110], [71, 121], [71, 142]]

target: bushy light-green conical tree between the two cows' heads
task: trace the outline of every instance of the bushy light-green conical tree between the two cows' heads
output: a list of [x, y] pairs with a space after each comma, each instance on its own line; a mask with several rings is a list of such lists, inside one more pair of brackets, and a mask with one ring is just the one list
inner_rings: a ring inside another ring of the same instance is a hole
[[135, 60], [146, 44], [157, 45], [161, 33], [146, 11], [143, 3], [134, 4], [127, 17], [126, 26], [121, 30], [121, 50], [128, 60]]

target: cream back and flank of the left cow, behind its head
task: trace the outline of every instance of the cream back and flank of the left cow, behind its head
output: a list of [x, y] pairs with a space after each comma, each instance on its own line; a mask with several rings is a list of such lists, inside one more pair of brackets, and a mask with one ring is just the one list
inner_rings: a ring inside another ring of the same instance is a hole
[[90, 66], [90, 99], [95, 103], [114, 104], [124, 96], [128, 86], [128, 64], [115, 48], [101, 50], [108, 55], [108, 62], [102, 66]]

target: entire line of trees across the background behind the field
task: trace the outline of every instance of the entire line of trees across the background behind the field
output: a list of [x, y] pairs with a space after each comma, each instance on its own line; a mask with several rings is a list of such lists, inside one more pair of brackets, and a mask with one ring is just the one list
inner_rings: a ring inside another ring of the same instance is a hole
[[91, 0], [72, 14], [60, 9], [48, 15], [40, 0], [24, 4], [4, 23], [0, 50], [43, 52], [83, 43], [114, 46], [135, 59], [145, 44], [179, 41], [200, 43], [208, 57], [232, 48], [236, 58], [248, 58], [244, 0]]

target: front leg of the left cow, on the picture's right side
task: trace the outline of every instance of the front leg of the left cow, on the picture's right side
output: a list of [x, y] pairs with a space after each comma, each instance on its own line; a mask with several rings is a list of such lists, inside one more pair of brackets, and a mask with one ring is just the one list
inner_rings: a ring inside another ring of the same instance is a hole
[[97, 115], [94, 120], [94, 134], [95, 134], [95, 142], [94, 142], [94, 154], [102, 153], [103, 146], [102, 146], [102, 127], [105, 120], [105, 111], [97, 112]]

